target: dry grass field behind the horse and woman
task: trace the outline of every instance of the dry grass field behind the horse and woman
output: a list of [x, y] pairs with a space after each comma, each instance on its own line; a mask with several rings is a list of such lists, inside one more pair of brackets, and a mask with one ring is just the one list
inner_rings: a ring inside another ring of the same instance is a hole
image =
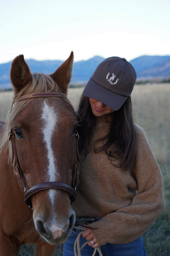
[[[68, 98], [77, 108], [83, 88], [70, 88]], [[13, 92], [0, 93], [0, 119], [5, 121]], [[170, 256], [170, 84], [136, 85], [132, 93], [135, 122], [144, 128], [160, 165], [164, 180], [166, 208], [144, 233], [147, 256]], [[20, 256], [33, 255], [26, 245]], [[54, 256], [62, 256], [61, 246]]]

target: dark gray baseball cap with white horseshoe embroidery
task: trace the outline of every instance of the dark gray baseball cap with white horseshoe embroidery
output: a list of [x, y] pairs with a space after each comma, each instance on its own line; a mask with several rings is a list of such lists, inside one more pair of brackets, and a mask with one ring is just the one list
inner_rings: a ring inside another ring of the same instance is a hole
[[136, 82], [136, 71], [125, 58], [110, 57], [102, 61], [90, 80], [83, 95], [96, 99], [114, 111], [122, 107]]

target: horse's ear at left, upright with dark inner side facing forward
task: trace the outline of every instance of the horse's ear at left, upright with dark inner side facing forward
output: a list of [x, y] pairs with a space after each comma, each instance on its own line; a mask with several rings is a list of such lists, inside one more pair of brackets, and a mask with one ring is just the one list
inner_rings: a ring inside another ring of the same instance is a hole
[[10, 77], [16, 93], [22, 90], [31, 80], [31, 72], [23, 55], [17, 56], [12, 61]]

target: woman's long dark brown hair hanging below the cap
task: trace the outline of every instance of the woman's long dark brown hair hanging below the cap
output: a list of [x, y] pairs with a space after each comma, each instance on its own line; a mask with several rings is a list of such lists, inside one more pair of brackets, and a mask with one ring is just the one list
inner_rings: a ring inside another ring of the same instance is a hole
[[[106, 140], [106, 143], [99, 148], [94, 148], [94, 152], [105, 150], [113, 165], [130, 170], [136, 157], [136, 131], [133, 123], [132, 103], [130, 96], [118, 111], [111, 113], [113, 116], [109, 133], [96, 140]], [[80, 134], [79, 153], [85, 156], [91, 150], [93, 130], [96, 125], [95, 116], [91, 111], [89, 98], [81, 96], [77, 111], [79, 122], [78, 131]], [[94, 143], [95, 145], [95, 143]], [[113, 160], [119, 159], [119, 165]]]

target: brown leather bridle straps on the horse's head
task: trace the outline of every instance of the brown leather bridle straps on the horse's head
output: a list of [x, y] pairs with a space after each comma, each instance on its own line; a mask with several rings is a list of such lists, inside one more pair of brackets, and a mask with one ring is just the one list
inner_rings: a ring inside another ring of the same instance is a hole
[[[21, 96], [19, 99], [17, 99], [16, 102], [26, 100], [26, 99], [47, 98], [47, 97], [67, 98], [67, 95], [65, 93], [34, 93], [34, 94], [28, 94], [28, 95]], [[13, 105], [13, 107], [14, 107], [14, 105]], [[62, 183], [62, 182], [52, 181], [52, 182], [40, 183], [40, 184], [37, 184], [36, 186], [33, 186], [30, 189], [28, 189], [25, 177], [23, 175], [23, 171], [22, 171], [22, 169], [20, 167], [20, 163], [18, 161], [14, 128], [10, 129], [9, 140], [11, 141], [11, 145], [12, 145], [12, 163], [13, 163], [14, 171], [17, 175], [18, 182], [20, 183], [20, 185], [24, 189], [25, 202], [29, 206], [30, 209], [33, 210], [32, 204], [31, 204], [31, 197], [34, 194], [36, 194], [37, 192], [40, 192], [40, 191], [45, 190], [45, 189], [62, 189], [62, 190], [65, 190], [66, 192], [68, 192], [68, 195], [70, 196], [71, 203], [73, 203], [75, 201], [76, 188], [77, 188], [77, 185], [79, 183], [79, 168], [80, 168], [80, 165], [79, 165], [80, 159], [79, 159], [79, 152], [78, 152], [79, 134], [78, 134], [77, 131], [75, 131], [76, 159], [75, 159], [72, 187], [69, 186], [68, 184], [65, 184], [65, 183]]]

